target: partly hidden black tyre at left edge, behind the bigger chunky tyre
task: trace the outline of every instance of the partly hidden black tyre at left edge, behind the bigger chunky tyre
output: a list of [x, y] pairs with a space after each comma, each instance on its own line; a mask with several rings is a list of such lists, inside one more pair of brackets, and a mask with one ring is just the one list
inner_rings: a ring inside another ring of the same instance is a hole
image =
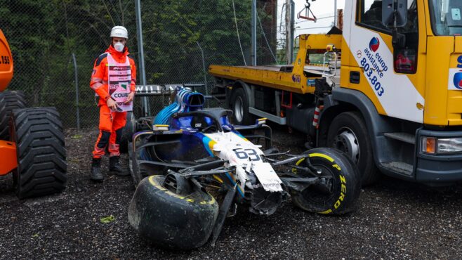
[[11, 112], [18, 108], [26, 108], [25, 96], [22, 91], [5, 91], [0, 93], [0, 140], [10, 139]]

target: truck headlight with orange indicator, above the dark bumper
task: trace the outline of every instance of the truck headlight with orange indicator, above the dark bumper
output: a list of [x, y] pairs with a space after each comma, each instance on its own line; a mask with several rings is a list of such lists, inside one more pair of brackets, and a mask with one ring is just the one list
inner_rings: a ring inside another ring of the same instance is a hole
[[462, 137], [460, 138], [435, 138], [422, 137], [421, 151], [428, 154], [462, 152]]

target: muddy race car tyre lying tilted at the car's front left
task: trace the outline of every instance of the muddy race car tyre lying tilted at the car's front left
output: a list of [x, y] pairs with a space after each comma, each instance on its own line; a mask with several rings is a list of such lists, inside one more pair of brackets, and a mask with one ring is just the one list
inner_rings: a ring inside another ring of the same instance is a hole
[[169, 176], [150, 176], [140, 182], [128, 208], [128, 221], [143, 238], [159, 247], [201, 247], [211, 235], [218, 203], [202, 190], [178, 194], [171, 186], [164, 186]]

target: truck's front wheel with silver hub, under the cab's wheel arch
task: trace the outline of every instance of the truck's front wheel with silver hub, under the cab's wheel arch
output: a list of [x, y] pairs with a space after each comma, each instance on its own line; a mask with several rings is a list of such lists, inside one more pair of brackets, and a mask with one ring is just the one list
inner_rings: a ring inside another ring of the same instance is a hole
[[329, 126], [327, 145], [352, 158], [361, 174], [362, 186], [376, 183], [380, 178], [367, 126], [359, 112], [343, 112], [334, 118]]

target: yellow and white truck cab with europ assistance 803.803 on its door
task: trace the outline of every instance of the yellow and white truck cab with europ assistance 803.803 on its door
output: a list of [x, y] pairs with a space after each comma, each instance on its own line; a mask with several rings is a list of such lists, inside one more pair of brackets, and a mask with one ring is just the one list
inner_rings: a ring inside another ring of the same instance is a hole
[[[387, 24], [392, 4], [401, 16]], [[461, 12], [456, 0], [345, 3], [341, 88], [332, 98], [359, 109], [385, 174], [462, 180]]]

